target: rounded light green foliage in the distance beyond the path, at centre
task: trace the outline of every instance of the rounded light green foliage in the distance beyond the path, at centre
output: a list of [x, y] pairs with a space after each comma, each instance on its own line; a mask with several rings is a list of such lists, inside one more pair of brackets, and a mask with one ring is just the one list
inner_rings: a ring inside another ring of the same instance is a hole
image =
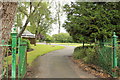
[[73, 42], [72, 37], [68, 33], [54, 34], [52, 37], [54, 42]]

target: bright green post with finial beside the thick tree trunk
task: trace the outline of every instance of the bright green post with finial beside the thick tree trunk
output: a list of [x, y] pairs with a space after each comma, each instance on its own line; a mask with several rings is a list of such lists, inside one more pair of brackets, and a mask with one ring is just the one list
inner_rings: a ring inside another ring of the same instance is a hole
[[17, 32], [16, 28], [11, 32], [12, 36], [12, 79], [16, 78], [16, 47], [17, 47]]

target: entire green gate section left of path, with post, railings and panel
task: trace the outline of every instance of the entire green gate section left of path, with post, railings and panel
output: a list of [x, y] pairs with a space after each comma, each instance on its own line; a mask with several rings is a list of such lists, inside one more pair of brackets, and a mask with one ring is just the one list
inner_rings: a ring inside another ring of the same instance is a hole
[[[22, 79], [26, 74], [27, 67], [27, 43], [20, 37], [17, 38], [16, 29], [11, 32], [11, 44], [0, 45], [4, 57], [2, 59], [2, 79]], [[11, 55], [10, 55], [11, 54]]]

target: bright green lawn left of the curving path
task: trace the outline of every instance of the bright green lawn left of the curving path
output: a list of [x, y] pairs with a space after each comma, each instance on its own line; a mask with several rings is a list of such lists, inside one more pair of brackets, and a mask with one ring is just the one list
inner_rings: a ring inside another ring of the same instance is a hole
[[[44, 44], [37, 44], [36, 46], [31, 45], [31, 48], [34, 49], [33, 51], [27, 52], [27, 63], [31, 66], [32, 62], [38, 57], [43, 54], [46, 54], [51, 51], [63, 49], [63, 46], [54, 46], [54, 45], [44, 45]], [[16, 55], [18, 61], [18, 54]], [[8, 64], [12, 63], [12, 56], [7, 57], [5, 60], [8, 61]], [[17, 62], [18, 64], [18, 62]]]

